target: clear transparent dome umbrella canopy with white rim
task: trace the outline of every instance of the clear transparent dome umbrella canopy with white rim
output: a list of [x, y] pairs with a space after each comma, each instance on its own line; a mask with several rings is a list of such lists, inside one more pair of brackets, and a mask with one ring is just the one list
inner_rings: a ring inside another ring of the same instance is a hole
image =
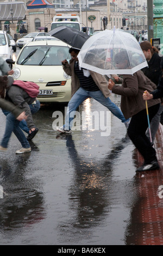
[[[123, 58], [121, 52], [127, 54], [129, 62], [123, 68], [117, 65]], [[134, 74], [148, 66], [139, 42], [122, 29], [105, 30], [92, 35], [80, 50], [78, 59], [82, 68], [102, 75]]]

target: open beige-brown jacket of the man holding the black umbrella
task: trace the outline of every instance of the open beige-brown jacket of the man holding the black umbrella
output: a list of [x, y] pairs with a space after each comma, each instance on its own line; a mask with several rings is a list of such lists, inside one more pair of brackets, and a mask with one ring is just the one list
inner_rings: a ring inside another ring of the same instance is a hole
[[[66, 72], [66, 74], [71, 76], [71, 96], [73, 96], [73, 94], [76, 93], [80, 87], [79, 78], [74, 72], [74, 63], [75, 60], [71, 59], [70, 64], [66, 64], [65, 66], [63, 66], [63, 69]], [[103, 95], [105, 97], [109, 97], [110, 90], [108, 89], [108, 82], [106, 81], [106, 78], [101, 74], [98, 74], [93, 71], [90, 71], [90, 74], [93, 78], [93, 81], [97, 84]]]

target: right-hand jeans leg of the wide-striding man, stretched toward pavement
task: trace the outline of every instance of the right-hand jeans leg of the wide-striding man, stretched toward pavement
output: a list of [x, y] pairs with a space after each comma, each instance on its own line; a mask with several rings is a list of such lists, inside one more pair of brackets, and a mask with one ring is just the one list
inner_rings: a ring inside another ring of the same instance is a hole
[[115, 117], [122, 121], [122, 123], [129, 121], [129, 119], [124, 118], [122, 111], [115, 105], [115, 103], [112, 102], [109, 97], [105, 98], [100, 90], [98, 90], [97, 92], [89, 92], [89, 95], [93, 97], [93, 99], [101, 103], [103, 106], [108, 108], [111, 113], [115, 115]]

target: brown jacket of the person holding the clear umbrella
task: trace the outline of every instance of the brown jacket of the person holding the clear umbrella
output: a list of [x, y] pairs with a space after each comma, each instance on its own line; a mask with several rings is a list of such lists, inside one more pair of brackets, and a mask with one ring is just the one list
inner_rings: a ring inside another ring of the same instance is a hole
[[[115, 85], [112, 93], [122, 95], [121, 110], [126, 119], [146, 109], [146, 101], [143, 100], [143, 92], [148, 90], [151, 93], [156, 89], [156, 85], [146, 77], [142, 71], [137, 71], [133, 75], [123, 75], [122, 86]], [[148, 107], [160, 103], [160, 99], [148, 100]]]

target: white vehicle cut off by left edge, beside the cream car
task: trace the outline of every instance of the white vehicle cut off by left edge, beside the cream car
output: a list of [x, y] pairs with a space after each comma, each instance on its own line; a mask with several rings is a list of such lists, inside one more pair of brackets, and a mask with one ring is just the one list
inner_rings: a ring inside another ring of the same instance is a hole
[[0, 31], [0, 57], [4, 60], [12, 57], [12, 42], [9, 39], [9, 35], [5, 31]]

